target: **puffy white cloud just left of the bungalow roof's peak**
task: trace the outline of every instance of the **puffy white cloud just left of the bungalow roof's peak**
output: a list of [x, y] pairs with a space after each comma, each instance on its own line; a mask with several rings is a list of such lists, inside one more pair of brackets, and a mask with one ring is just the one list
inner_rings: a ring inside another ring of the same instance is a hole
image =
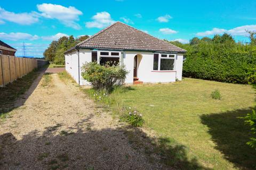
[[96, 15], [92, 16], [92, 19], [93, 21], [85, 23], [87, 28], [103, 28], [115, 22], [113, 19], [111, 19], [110, 14], [105, 11], [98, 12]]

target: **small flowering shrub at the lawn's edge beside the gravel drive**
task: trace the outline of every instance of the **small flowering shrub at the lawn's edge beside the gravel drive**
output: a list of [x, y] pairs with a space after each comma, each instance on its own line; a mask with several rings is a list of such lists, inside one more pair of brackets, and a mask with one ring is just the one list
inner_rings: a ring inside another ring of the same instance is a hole
[[142, 114], [140, 114], [136, 109], [125, 109], [124, 113], [120, 117], [121, 121], [127, 122], [134, 127], [141, 127], [144, 123]]

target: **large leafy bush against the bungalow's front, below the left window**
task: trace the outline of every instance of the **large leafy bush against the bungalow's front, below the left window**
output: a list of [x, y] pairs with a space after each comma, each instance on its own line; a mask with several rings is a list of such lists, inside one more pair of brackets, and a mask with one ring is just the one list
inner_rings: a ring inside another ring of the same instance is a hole
[[100, 65], [95, 62], [85, 63], [82, 66], [82, 77], [89, 81], [97, 91], [111, 92], [115, 86], [121, 86], [126, 78], [127, 71], [123, 65]]

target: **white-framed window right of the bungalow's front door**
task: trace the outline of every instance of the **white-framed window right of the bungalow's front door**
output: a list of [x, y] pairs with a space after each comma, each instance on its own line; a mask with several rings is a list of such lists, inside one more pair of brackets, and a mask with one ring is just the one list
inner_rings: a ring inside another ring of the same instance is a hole
[[172, 71], [175, 69], [175, 54], [154, 54], [153, 70]]

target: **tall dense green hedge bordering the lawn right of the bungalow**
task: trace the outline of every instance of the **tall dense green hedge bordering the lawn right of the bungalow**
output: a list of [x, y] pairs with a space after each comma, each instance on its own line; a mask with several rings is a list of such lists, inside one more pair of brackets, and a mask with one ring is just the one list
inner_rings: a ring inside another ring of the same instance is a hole
[[250, 50], [197, 46], [187, 52], [183, 76], [231, 83], [248, 83], [249, 72], [256, 66]]

